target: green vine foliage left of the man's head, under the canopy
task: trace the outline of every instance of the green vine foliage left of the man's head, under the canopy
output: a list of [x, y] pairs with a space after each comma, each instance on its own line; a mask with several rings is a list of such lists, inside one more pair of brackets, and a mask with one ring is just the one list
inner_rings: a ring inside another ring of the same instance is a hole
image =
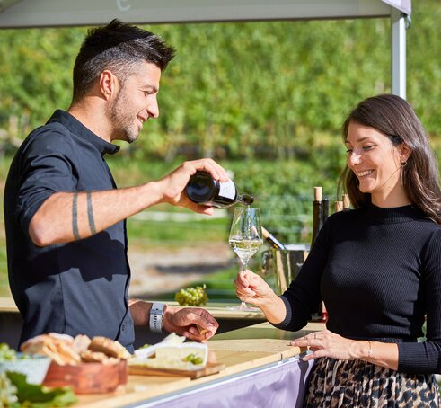
[[13, 115], [25, 129], [44, 123], [55, 107], [71, 99], [73, 60], [84, 29], [0, 31], [0, 119], [7, 129]]

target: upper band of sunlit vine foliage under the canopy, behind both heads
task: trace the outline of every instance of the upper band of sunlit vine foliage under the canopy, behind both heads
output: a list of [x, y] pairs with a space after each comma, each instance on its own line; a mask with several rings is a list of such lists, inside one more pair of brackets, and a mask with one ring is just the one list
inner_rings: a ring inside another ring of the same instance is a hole
[[[408, 99], [428, 133], [441, 134], [437, 106], [441, 39], [437, 0], [413, 4]], [[390, 21], [228, 22], [146, 26], [178, 55], [163, 74], [161, 116], [129, 157], [313, 161], [323, 134], [340, 133], [366, 96], [391, 91]], [[19, 137], [71, 99], [84, 28], [0, 31], [0, 128]], [[19, 129], [13, 129], [12, 118]], [[338, 143], [336, 137], [331, 145]], [[330, 145], [330, 146], [331, 146]], [[328, 161], [332, 160], [332, 157]], [[322, 162], [319, 162], [322, 163]]]

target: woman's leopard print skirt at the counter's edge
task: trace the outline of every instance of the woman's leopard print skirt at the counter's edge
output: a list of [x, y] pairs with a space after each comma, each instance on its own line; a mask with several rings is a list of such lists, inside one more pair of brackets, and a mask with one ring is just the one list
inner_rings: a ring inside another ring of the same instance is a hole
[[403, 374], [361, 360], [316, 359], [304, 407], [438, 407], [434, 375]]

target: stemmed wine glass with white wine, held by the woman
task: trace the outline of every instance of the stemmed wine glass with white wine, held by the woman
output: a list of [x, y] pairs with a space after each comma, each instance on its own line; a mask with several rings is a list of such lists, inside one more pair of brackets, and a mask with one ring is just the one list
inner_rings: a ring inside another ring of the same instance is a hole
[[[239, 273], [244, 273], [251, 256], [254, 255], [261, 244], [263, 244], [259, 208], [250, 208], [250, 206], [234, 208], [229, 243], [233, 247], [234, 253], [241, 260], [242, 270]], [[232, 310], [243, 310], [245, 312], [260, 310], [257, 307], [247, 306], [244, 300], [242, 300], [240, 306], [228, 308]]]

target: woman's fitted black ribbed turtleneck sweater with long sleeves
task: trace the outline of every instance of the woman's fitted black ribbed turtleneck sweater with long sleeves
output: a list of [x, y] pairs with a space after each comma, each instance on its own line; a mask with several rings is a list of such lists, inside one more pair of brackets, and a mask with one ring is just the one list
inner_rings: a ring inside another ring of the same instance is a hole
[[333, 214], [282, 299], [279, 328], [300, 330], [323, 300], [331, 332], [396, 342], [399, 371], [441, 373], [441, 226], [417, 208]]

